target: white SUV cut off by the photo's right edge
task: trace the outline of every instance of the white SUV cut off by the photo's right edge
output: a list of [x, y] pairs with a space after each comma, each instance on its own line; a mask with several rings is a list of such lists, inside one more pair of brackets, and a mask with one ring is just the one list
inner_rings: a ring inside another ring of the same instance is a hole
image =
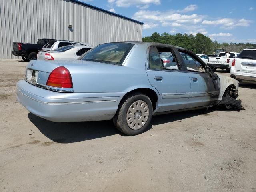
[[230, 77], [248, 83], [256, 83], [256, 49], [244, 49], [232, 60]]

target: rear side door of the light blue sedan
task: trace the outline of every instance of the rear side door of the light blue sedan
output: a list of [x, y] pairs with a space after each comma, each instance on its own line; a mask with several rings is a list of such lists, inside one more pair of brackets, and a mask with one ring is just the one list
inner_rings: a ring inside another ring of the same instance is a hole
[[158, 112], [179, 110], [186, 108], [190, 95], [190, 79], [182, 71], [176, 58], [172, 57], [172, 65], [163, 66], [159, 52], [171, 52], [171, 48], [151, 46], [148, 56], [146, 72], [150, 84], [160, 94], [160, 109]]

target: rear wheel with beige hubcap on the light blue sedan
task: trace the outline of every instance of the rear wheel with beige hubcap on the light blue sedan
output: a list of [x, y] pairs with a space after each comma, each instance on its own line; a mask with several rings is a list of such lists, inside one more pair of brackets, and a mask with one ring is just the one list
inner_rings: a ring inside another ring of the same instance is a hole
[[120, 104], [113, 122], [116, 128], [124, 134], [137, 135], [148, 129], [152, 114], [153, 107], [150, 98], [142, 93], [134, 93], [127, 96]]

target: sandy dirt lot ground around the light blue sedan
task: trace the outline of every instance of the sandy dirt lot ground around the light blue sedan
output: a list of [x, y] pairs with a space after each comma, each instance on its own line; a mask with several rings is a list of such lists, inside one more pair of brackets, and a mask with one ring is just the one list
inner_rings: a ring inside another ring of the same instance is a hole
[[15, 95], [24, 66], [0, 60], [0, 191], [256, 192], [255, 85], [240, 85], [246, 110], [154, 116], [150, 130], [128, 137], [111, 121], [29, 113]]

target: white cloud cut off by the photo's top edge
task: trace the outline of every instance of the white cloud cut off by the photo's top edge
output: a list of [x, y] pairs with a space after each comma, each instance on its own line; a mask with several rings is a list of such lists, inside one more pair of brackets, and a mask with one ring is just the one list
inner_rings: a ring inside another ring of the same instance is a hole
[[[148, 4], [160, 5], [160, 0], [108, 0], [108, 3], [115, 3], [118, 7], [141, 6]], [[148, 8], [146, 6], [146, 8]]]

